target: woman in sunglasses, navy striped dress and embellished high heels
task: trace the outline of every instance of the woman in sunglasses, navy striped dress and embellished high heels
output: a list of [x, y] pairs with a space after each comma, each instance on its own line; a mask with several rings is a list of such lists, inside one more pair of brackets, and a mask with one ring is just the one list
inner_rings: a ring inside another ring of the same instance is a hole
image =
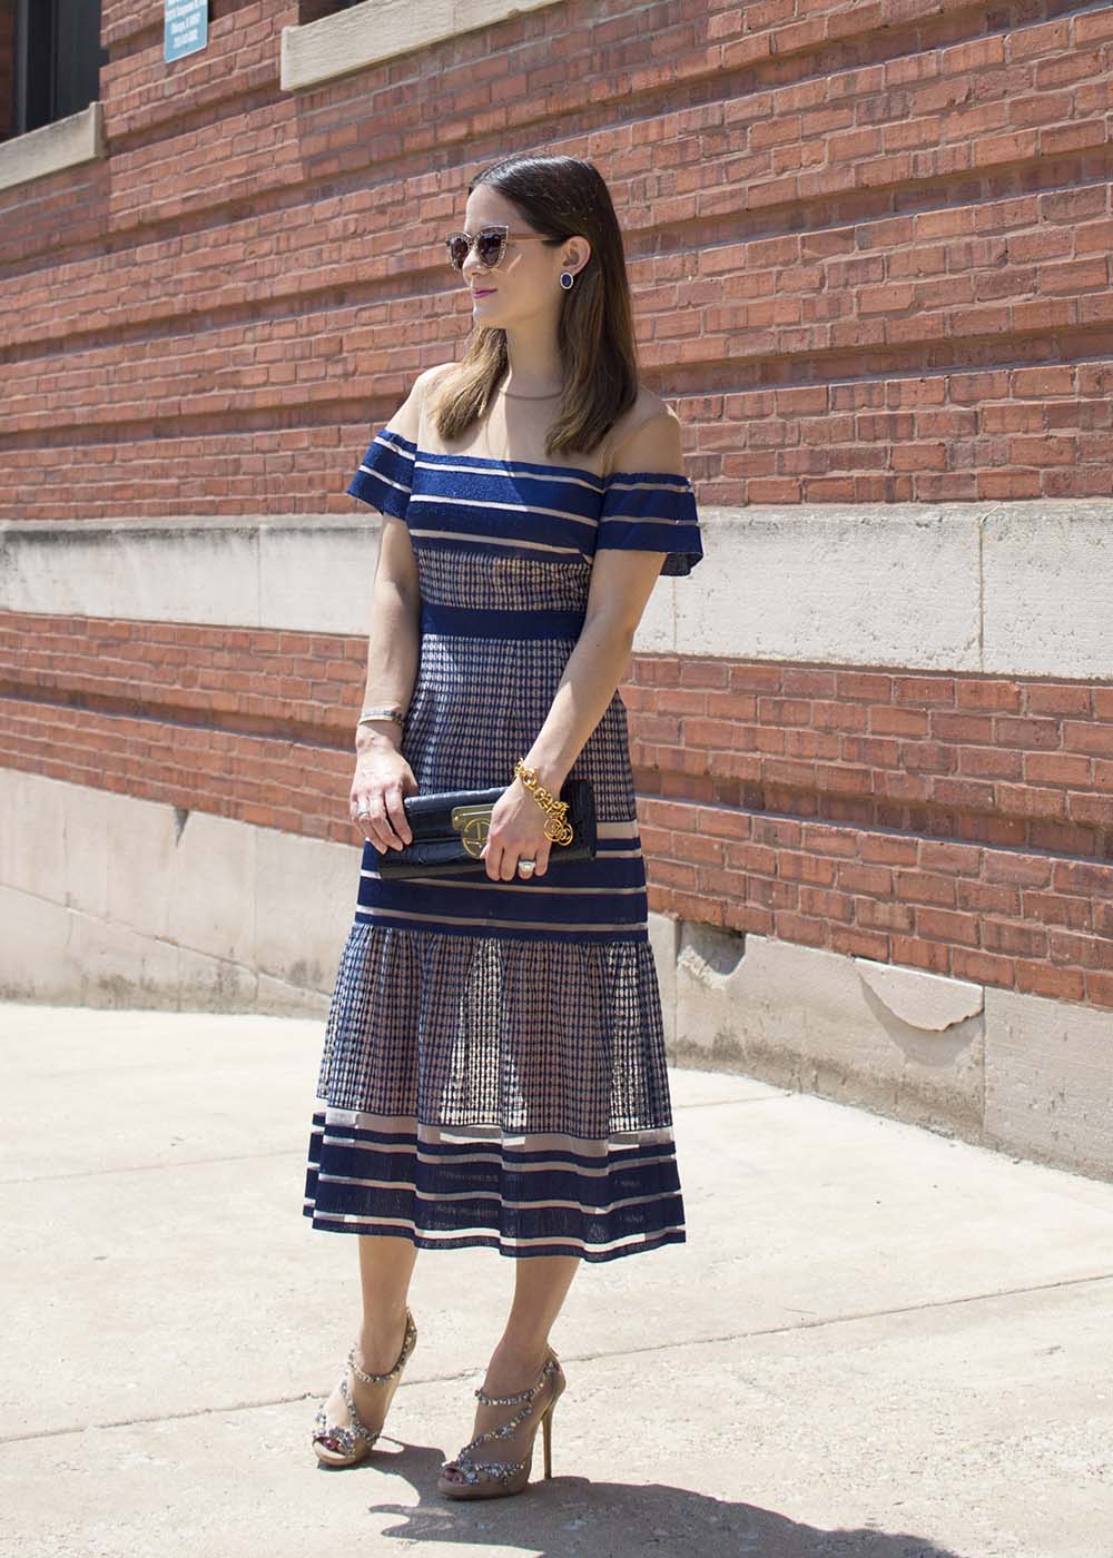
[[[355, 735], [359, 907], [326, 1025], [304, 1212], [360, 1234], [363, 1323], [316, 1418], [329, 1465], [382, 1432], [418, 1248], [516, 1257], [449, 1497], [550, 1475], [550, 1327], [581, 1260], [683, 1243], [627, 710], [661, 572], [701, 553], [680, 422], [638, 385], [622, 235], [595, 167], [516, 156], [469, 187], [449, 259], [460, 363], [419, 374], [348, 491], [383, 514]], [[592, 782], [594, 860], [541, 790]], [[402, 798], [507, 788], [474, 871], [383, 879]]]

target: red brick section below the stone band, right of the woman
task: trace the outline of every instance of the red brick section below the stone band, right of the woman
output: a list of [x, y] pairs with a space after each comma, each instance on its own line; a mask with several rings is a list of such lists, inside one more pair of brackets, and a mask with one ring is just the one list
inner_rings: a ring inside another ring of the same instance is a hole
[[636, 656], [624, 701], [652, 907], [1113, 1006], [1113, 686]]

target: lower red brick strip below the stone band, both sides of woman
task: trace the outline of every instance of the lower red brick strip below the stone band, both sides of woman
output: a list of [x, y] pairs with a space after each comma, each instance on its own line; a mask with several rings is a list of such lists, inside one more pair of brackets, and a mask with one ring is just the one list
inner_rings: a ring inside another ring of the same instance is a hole
[[[0, 615], [0, 763], [351, 843], [365, 654]], [[1113, 1006], [1113, 687], [638, 654], [622, 696], [653, 910]]]

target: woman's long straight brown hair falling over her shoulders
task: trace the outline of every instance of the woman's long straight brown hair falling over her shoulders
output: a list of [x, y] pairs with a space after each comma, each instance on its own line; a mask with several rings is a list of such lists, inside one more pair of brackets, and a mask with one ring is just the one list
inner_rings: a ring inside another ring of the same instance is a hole
[[[550, 455], [591, 452], [638, 399], [630, 282], [611, 193], [591, 162], [528, 153], [491, 164], [468, 193], [480, 184], [513, 201], [546, 248], [575, 235], [591, 245], [591, 257], [560, 307], [563, 391], [546, 438]], [[508, 368], [507, 332], [477, 326], [463, 358], [438, 379], [433, 393], [433, 421], [446, 442], [485, 414]]]

